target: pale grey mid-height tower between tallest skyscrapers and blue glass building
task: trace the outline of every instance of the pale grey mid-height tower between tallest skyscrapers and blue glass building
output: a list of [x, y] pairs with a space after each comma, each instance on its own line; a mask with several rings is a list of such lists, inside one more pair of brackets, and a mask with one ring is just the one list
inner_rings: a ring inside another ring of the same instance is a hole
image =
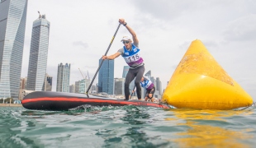
[[70, 64], [66, 63], [58, 65], [57, 86], [56, 91], [69, 92]]

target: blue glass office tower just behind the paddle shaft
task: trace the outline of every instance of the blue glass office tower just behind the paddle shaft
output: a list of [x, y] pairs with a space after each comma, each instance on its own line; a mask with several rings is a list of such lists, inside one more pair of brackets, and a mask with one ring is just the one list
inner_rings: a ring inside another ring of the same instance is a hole
[[[99, 63], [102, 62], [102, 58]], [[98, 92], [114, 93], [114, 60], [104, 60], [98, 73]]]

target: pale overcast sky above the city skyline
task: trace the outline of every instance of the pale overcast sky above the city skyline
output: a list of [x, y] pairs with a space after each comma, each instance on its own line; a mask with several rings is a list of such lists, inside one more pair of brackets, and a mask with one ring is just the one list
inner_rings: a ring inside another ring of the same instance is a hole
[[[145, 72], [159, 77], [163, 89], [189, 45], [200, 39], [206, 49], [243, 89], [256, 100], [256, 1], [254, 0], [30, 0], [21, 77], [27, 76], [33, 21], [45, 14], [50, 21], [47, 73], [56, 90], [60, 62], [70, 63], [70, 85], [92, 77], [124, 18], [140, 41]], [[130, 35], [122, 26], [108, 55]], [[115, 59], [114, 77], [126, 62]], [[79, 69], [83, 76], [79, 72]], [[97, 83], [97, 77], [93, 84]]]

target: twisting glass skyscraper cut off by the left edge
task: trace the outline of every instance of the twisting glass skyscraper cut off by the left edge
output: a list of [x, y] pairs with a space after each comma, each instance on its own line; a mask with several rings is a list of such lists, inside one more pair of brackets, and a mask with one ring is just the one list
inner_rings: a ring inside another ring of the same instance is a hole
[[27, 0], [0, 0], [0, 98], [18, 99]]

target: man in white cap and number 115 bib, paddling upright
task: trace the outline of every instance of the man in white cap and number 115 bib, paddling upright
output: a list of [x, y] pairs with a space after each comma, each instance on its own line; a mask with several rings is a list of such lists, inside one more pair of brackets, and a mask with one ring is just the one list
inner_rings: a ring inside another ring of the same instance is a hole
[[116, 53], [109, 56], [102, 56], [102, 59], [113, 60], [120, 55], [125, 58], [126, 63], [130, 66], [129, 71], [126, 75], [125, 82], [125, 95], [126, 99], [129, 100], [130, 90], [129, 85], [130, 82], [135, 78], [135, 86], [138, 99], [141, 99], [141, 88], [140, 88], [140, 80], [145, 72], [143, 58], [140, 57], [140, 49], [139, 49], [139, 39], [135, 34], [135, 31], [127, 25], [125, 19], [119, 19], [119, 22], [126, 27], [126, 29], [130, 32], [132, 39], [129, 35], [124, 36], [121, 39], [121, 42], [124, 44], [124, 47], [119, 49]]

